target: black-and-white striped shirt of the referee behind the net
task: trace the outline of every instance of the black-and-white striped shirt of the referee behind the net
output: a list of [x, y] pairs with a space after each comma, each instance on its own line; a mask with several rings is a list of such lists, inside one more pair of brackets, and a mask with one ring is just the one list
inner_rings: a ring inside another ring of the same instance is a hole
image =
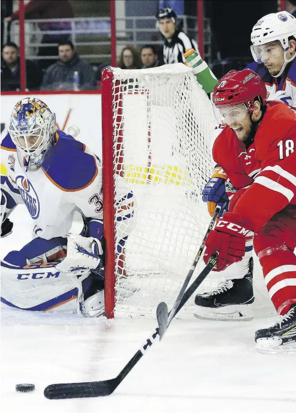
[[198, 51], [197, 43], [182, 31], [176, 30], [169, 43], [166, 39], [163, 44], [163, 61], [166, 65], [172, 63], [185, 63], [183, 54], [185, 49], [195, 49]]

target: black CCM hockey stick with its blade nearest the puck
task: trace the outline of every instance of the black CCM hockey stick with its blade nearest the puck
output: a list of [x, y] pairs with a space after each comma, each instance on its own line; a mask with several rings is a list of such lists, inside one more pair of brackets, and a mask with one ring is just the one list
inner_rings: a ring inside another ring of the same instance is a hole
[[[184, 304], [189, 300], [197, 287], [203, 282], [209, 272], [217, 264], [217, 256], [213, 254], [209, 259], [208, 264], [196, 277], [191, 286], [184, 293], [176, 313], [181, 310]], [[127, 374], [136, 366], [138, 361], [144, 356], [147, 350], [155, 342], [159, 335], [158, 327], [148, 337], [145, 344], [134, 354], [131, 360], [126, 364], [117, 377], [110, 380], [102, 380], [99, 382], [85, 382], [85, 383], [65, 383], [65, 384], [51, 384], [44, 389], [44, 396], [47, 399], [74, 399], [85, 397], [109, 396], [124, 380]]]

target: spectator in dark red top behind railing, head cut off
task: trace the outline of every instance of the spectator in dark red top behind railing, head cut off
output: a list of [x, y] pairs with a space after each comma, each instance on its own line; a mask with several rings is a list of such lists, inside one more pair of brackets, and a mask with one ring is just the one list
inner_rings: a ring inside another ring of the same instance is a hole
[[[69, 0], [30, 0], [24, 5], [25, 19], [57, 19], [74, 17], [71, 3]], [[4, 21], [18, 20], [19, 12], [14, 11]], [[58, 43], [59, 40], [66, 40], [69, 35], [54, 34], [54, 31], [71, 30], [70, 21], [47, 21], [38, 24], [40, 30], [52, 31], [52, 34], [44, 34], [41, 43]], [[45, 46], [39, 48], [38, 56], [57, 56], [56, 46]], [[40, 59], [39, 66], [46, 69], [53, 64], [55, 59]]]

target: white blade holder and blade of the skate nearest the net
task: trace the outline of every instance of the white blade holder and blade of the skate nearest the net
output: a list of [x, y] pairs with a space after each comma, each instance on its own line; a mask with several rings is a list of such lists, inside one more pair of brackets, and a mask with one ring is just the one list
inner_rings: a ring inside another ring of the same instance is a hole
[[243, 309], [241, 306], [237, 307], [239, 306], [227, 306], [215, 310], [198, 308], [193, 315], [201, 320], [251, 321], [253, 319], [253, 311], [248, 305]]

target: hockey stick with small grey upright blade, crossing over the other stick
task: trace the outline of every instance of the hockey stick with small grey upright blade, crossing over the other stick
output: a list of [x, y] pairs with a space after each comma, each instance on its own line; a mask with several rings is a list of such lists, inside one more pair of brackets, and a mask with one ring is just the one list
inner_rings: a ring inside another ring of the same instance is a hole
[[183, 297], [183, 294], [187, 288], [187, 285], [192, 277], [192, 274], [194, 273], [194, 270], [196, 268], [196, 265], [201, 257], [201, 254], [204, 250], [205, 247], [205, 241], [210, 233], [210, 231], [212, 230], [215, 221], [217, 219], [217, 216], [219, 214], [221, 210], [221, 206], [216, 206], [215, 211], [214, 211], [214, 215], [211, 219], [211, 222], [208, 226], [207, 232], [202, 240], [201, 246], [198, 250], [198, 253], [196, 254], [196, 257], [190, 267], [190, 270], [185, 278], [184, 284], [182, 285], [182, 288], [178, 294], [178, 297], [176, 298], [176, 301], [174, 302], [172, 309], [170, 310], [169, 314], [168, 314], [168, 309], [167, 309], [167, 305], [166, 303], [162, 302], [159, 303], [156, 309], [156, 317], [157, 317], [157, 322], [158, 322], [158, 328], [159, 328], [159, 340], [162, 339], [163, 335], [165, 334], [165, 331], [167, 330], [167, 327], [169, 326], [171, 320], [173, 319], [173, 317], [176, 315], [177, 312], [177, 308], [181, 302], [181, 299]]

